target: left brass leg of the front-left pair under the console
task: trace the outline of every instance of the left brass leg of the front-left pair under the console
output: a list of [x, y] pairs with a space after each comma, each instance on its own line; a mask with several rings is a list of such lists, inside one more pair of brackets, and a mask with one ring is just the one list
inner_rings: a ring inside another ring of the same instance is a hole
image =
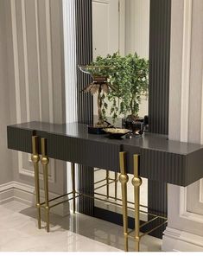
[[40, 203], [40, 181], [39, 181], [39, 161], [40, 157], [38, 154], [38, 137], [32, 137], [32, 162], [35, 170], [35, 193], [36, 193], [36, 208], [37, 208], [37, 220], [38, 228], [41, 229], [41, 203]]

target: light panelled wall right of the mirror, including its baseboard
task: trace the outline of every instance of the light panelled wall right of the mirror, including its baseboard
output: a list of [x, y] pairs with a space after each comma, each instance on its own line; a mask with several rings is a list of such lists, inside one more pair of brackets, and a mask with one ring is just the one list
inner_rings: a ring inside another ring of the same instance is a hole
[[[169, 138], [197, 144], [203, 144], [202, 13], [201, 0], [172, 0]], [[168, 186], [164, 250], [203, 251], [202, 191], [202, 181]]]

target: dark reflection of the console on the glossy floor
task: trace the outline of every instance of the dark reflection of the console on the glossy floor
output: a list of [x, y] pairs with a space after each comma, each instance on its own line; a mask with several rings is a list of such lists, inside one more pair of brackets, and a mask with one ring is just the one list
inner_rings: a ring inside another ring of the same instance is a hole
[[[36, 218], [34, 207], [23, 209], [21, 214]], [[42, 221], [45, 221], [43, 214]], [[50, 222], [51, 233], [57, 234], [61, 230], [69, 230], [73, 232], [73, 234], [80, 234], [91, 240], [96, 240], [105, 245], [113, 246], [115, 249], [124, 250], [123, 227], [117, 226], [116, 224], [78, 213], [70, 214], [66, 217], [50, 214]], [[141, 251], [159, 252], [161, 251], [161, 246], [162, 240], [147, 235], [142, 239]], [[134, 241], [131, 239], [129, 242], [129, 250], [131, 252], [134, 251]]]

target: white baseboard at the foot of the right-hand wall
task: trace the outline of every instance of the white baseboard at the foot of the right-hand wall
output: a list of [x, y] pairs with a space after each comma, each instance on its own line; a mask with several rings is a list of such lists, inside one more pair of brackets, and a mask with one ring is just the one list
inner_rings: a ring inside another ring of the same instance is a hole
[[203, 252], [203, 237], [167, 227], [162, 239], [164, 252]]

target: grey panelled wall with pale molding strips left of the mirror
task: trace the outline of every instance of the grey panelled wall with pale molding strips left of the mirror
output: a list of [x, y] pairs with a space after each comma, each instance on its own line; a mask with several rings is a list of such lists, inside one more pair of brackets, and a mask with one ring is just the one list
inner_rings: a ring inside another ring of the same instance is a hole
[[[4, 102], [0, 103], [4, 108], [10, 106], [10, 111], [1, 108], [4, 112], [1, 150], [6, 159], [10, 156], [5, 144], [7, 124], [32, 120], [65, 122], [62, 0], [1, 0], [0, 3], [1, 19], [6, 18], [1, 24], [7, 26], [4, 29], [7, 36], [3, 37], [7, 42], [2, 46], [4, 59], [1, 60], [3, 64], [7, 60], [8, 66], [4, 67], [5, 76], [1, 79], [8, 81], [7, 87], [1, 86], [6, 95], [1, 94]], [[5, 166], [8, 177], [3, 182], [13, 176], [16, 182], [34, 185], [30, 156], [11, 154], [12, 168]], [[49, 166], [50, 190], [61, 194], [67, 190], [66, 163], [51, 159]]]

